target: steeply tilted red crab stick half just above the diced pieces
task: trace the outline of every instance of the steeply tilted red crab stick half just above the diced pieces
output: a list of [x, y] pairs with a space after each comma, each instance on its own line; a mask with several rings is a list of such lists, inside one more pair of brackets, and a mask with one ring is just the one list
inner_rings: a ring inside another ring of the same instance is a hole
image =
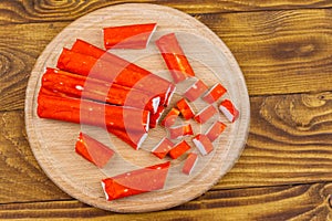
[[195, 76], [195, 73], [174, 33], [163, 35], [156, 41], [156, 45], [163, 55], [174, 83], [177, 84], [185, 81], [188, 76]]

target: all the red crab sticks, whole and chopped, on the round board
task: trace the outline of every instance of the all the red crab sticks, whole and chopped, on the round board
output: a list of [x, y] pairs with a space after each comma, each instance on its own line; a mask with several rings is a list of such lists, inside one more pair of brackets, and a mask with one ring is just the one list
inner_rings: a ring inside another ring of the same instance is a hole
[[[188, 152], [193, 148], [184, 137], [191, 136], [198, 152], [206, 156], [214, 150], [212, 143], [226, 125], [217, 120], [206, 133], [195, 134], [190, 124], [175, 126], [176, 120], [181, 117], [185, 122], [194, 119], [197, 124], [205, 124], [220, 110], [234, 123], [239, 112], [227, 98], [217, 105], [218, 108], [215, 107], [227, 90], [220, 83], [208, 87], [195, 76], [175, 33], [155, 41], [173, 82], [110, 52], [112, 49], [145, 49], [156, 27], [156, 23], [108, 27], [103, 29], [105, 50], [80, 39], [71, 49], [63, 49], [56, 67], [46, 67], [42, 75], [37, 112], [41, 118], [104, 128], [136, 150], [146, 139], [148, 130], [160, 125], [167, 129], [168, 137], [162, 138], [152, 154], [159, 159], [168, 156], [170, 160], [183, 156], [181, 172], [190, 175], [198, 154]], [[188, 78], [196, 82], [164, 116], [176, 85]], [[195, 113], [191, 103], [198, 98], [207, 107]], [[179, 141], [174, 144], [173, 140]], [[103, 168], [116, 154], [83, 133], [79, 134], [75, 151], [98, 168]], [[163, 189], [170, 160], [103, 179], [106, 199]]]

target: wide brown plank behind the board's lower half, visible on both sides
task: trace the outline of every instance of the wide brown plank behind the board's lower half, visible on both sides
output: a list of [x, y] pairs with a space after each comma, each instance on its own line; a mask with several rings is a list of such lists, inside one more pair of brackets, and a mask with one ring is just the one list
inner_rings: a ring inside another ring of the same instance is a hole
[[[252, 97], [245, 151], [212, 189], [332, 181], [331, 97]], [[2, 113], [0, 119], [0, 203], [66, 198], [37, 166], [23, 133], [23, 112]]]

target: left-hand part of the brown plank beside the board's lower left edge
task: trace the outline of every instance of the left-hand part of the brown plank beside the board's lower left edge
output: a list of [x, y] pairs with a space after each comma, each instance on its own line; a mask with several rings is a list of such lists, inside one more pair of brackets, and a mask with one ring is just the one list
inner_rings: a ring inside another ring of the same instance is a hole
[[68, 199], [39, 167], [23, 124], [22, 112], [0, 113], [0, 203]]

